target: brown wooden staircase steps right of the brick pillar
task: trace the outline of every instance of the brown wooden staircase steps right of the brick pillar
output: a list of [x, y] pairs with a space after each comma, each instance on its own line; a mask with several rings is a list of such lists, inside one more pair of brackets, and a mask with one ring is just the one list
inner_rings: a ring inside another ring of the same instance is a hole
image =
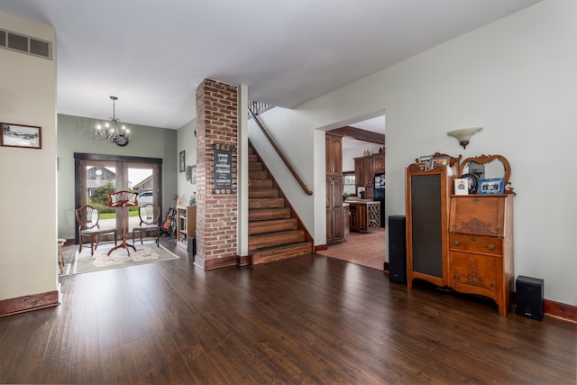
[[313, 252], [312, 237], [249, 146], [249, 258], [252, 264]]

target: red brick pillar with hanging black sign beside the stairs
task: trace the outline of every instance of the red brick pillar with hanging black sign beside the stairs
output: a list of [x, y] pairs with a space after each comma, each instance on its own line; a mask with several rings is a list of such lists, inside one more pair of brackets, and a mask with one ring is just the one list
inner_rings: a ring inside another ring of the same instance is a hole
[[[237, 87], [205, 79], [197, 89], [197, 255], [203, 269], [237, 261]], [[232, 151], [232, 189], [215, 189], [215, 146]]]

